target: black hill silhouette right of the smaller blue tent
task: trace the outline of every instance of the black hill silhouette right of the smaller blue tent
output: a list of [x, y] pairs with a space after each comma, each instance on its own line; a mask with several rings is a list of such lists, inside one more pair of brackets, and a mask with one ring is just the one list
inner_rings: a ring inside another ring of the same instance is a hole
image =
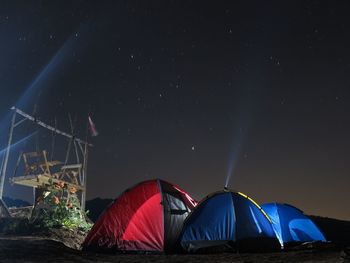
[[350, 245], [350, 221], [310, 216], [326, 239], [340, 245]]

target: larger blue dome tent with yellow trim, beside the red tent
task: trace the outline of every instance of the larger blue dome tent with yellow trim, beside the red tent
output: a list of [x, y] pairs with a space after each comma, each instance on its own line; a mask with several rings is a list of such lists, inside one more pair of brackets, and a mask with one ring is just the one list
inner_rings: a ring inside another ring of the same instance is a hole
[[[267, 242], [270, 241], [270, 242]], [[210, 248], [280, 248], [270, 219], [250, 197], [232, 191], [207, 196], [187, 217], [181, 246], [190, 252]], [[254, 246], [253, 246], [254, 244]]]

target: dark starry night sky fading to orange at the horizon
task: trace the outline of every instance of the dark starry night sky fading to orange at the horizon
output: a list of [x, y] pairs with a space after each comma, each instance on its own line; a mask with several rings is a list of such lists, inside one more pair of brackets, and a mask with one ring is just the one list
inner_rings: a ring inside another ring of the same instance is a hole
[[[350, 220], [349, 13], [348, 1], [1, 1], [2, 148], [13, 105], [67, 131], [70, 113], [83, 138], [90, 114], [88, 199], [151, 178], [201, 199], [231, 175], [258, 203]], [[29, 140], [50, 150], [39, 133]]]

